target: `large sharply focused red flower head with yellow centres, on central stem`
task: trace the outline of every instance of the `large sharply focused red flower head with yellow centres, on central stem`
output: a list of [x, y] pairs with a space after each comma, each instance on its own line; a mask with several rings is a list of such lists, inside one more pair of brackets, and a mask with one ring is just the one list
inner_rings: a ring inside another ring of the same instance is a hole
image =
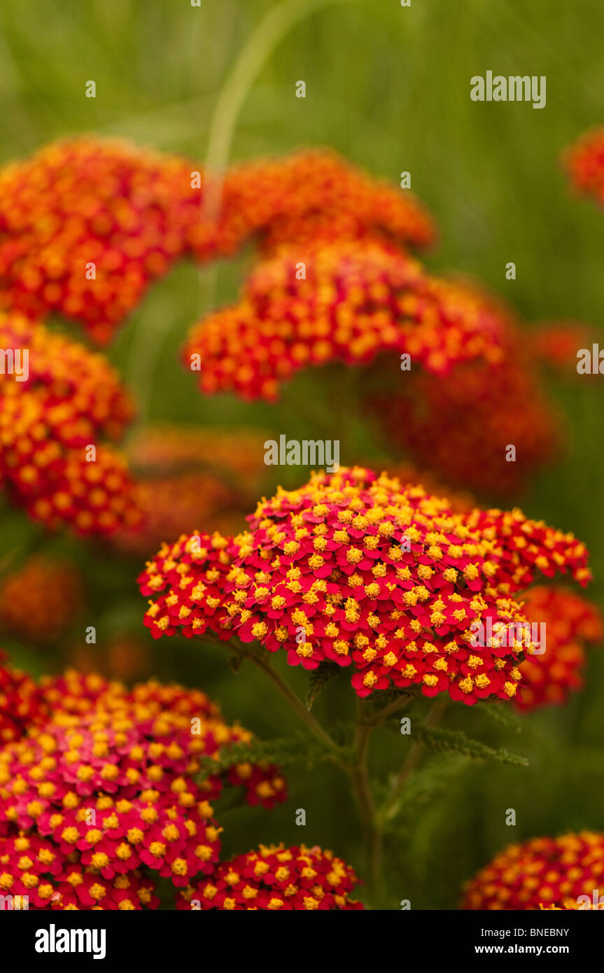
[[292, 666], [352, 668], [361, 697], [394, 686], [472, 704], [508, 700], [529, 640], [475, 647], [474, 623], [525, 622], [514, 595], [537, 572], [586, 583], [586, 548], [520, 511], [453, 513], [385, 474], [341, 468], [279, 489], [234, 538], [183, 535], [138, 582], [154, 637], [236, 634]]

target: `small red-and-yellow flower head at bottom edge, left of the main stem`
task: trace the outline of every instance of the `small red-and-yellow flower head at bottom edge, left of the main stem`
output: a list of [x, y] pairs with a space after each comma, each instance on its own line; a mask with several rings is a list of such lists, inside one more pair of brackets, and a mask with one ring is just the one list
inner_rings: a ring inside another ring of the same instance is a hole
[[221, 862], [215, 874], [179, 896], [178, 909], [275, 912], [363, 909], [350, 898], [359, 882], [350, 865], [320, 847], [261, 845]]

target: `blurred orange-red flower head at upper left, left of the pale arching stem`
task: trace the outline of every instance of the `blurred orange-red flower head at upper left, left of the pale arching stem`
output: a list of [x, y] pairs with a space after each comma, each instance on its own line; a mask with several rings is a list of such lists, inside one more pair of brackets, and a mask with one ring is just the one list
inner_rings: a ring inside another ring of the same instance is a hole
[[183, 253], [199, 205], [191, 171], [187, 160], [91, 137], [5, 165], [3, 306], [30, 317], [61, 314], [107, 342], [149, 282]]

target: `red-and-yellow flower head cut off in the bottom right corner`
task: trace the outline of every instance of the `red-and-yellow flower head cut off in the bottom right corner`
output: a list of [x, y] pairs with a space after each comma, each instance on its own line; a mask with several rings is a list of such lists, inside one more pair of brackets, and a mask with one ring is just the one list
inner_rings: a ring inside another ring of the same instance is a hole
[[461, 908], [598, 908], [600, 893], [593, 893], [601, 889], [603, 876], [604, 835], [582, 831], [533, 838], [506, 848], [467, 883]]

